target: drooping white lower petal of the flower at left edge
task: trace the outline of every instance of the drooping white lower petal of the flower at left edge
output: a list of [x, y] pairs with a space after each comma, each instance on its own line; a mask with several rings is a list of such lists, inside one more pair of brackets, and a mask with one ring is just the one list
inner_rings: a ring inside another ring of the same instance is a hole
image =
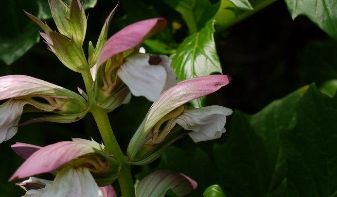
[[23, 106], [28, 103], [25, 100], [10, 99], [0, 105], [0, 143], [11, 139], [18, 132], [16, 126], [20, 120]]

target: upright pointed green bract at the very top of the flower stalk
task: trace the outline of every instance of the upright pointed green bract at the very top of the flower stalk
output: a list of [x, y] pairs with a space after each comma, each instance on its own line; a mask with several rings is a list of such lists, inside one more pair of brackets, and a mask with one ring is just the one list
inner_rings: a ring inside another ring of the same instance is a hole
[[[71, 0], [69, 27], [72, 39], [78, 46], [83, 45], [87, 30], [87, 18], [84, 7], [80, 7], [77, 0]], [[68, 36], [70, 37], [70, 36]]]

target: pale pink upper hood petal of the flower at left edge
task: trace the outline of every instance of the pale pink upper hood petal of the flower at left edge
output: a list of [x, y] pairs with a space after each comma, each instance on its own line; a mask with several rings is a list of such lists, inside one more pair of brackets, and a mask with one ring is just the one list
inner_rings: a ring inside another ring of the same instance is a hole
[[86, 103], [77, 93], [34, 77], [25, 75], [0, 77], [0, 100], [29, 95], [64, 96]]

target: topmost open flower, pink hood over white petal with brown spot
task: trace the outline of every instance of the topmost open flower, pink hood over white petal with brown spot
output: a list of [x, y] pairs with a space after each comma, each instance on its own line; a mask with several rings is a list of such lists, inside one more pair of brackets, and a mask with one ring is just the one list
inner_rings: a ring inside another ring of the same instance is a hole
[[[110, 16], [106, 24], [109, 20]], [[156, 101], [162, 91], [177, 83], [177, 76], [170, 67], [171, 60], [167, 56], [138, 52], [142, 41], [159, 33], [166, 23], [164, 18], [142, 20], [115, 33], [103, 47], [103, 41], [96, 46], [99, 50], [95, 50], [91, 56], [98, 56], [97, 53], [99, 56], [97, 61], [95, 58], [90, 61], [90, 65], [94, 64], [90, 72], [95, 81], [93, 92], [99, 106], [109, 111], [115, 109], [129, 99], [124, 99], [127, 97], [126, 91]], [[114, 102], [109, 101], [111, 96], [122, 90], [123, 97], [114, 98]]]

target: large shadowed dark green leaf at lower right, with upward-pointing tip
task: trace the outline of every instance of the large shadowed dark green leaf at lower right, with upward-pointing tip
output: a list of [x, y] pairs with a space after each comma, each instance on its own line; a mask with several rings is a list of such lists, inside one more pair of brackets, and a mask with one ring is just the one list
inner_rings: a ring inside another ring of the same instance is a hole
[[286, 166], [279, 132], [294, 124], [295, 109], [305, 90], [276, 100], [255, 115], [234, 113], [228, 141], [214, 146], [225, 190], [241, 197], [285, 195]]

